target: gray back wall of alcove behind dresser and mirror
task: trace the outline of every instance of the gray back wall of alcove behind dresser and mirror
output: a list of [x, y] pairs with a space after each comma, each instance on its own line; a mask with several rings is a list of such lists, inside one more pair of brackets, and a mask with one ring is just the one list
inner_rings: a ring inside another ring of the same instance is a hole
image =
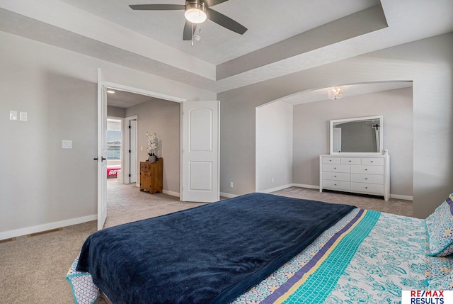
[[294, 184], [319, 186], [319, 154], [329, 152], [329, 121], [383, 116], [390, 155], [390, 193], [413, 196], [412, 88], [294, 106]]

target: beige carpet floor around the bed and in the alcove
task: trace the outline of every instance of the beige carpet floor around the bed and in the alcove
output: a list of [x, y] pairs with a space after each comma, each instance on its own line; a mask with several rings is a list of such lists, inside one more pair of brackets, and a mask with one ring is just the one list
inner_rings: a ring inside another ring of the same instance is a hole
[[[353, 196], [306, 188], [287, 188], [275, 194], [331, 203], [349, 203], [359, 208], [400, 215], [412, 215], [410, 201]], [[200, 206], [183, 203], [174, 196], [140, 192], [131, 185], [108, 181], [108, 217], [105, 227]], [[64, 276], [88, 235], [96, 231], [96, 221], [64, 227], [62, 230], [0, 242], [0, 304], [74, 303]], [[103, 303], [99, 301], [98, 303]]]

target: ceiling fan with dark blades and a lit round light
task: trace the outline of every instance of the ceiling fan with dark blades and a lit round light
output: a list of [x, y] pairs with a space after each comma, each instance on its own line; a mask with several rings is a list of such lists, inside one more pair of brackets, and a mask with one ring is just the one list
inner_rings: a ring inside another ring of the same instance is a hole
[[[205, 22], [206, 19], [210, 19], [219, 26], [223, 26], [235, 33], [241, 35], [246, 33], [247, 28], [222, 13], [210, 9], [211, 6], [226, 1], [228, 0], [187, 0], [185, 4], [135, 4], [130, 5], [130, 8], [137, 11], [185, 10], [184, 16], [186, 20], [183, 30], [183, 40], [192, 40], [196, 25]], [[193, 23], [195, 23], [195, 26], [193, 26]]]

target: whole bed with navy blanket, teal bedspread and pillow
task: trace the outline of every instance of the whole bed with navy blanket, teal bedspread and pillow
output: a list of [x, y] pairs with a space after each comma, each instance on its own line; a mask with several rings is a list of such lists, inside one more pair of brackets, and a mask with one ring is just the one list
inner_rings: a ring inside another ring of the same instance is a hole
[[452, 288], [452, 198], [420, 220], [251, 193], [95, 232], [67, 280], [76, 303], [398, 303]]

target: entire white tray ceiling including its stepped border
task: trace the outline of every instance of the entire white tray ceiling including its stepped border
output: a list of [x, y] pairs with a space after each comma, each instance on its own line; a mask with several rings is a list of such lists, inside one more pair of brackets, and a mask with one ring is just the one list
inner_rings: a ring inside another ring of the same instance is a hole
[[246, 33], [207, 21], [192, 47], [182, 40], [183, 11], [128, 6], [183, 3], [0, 0], [0, 30], [215, 93], [453, 31], [452, 0], [229, 0], [212, 9]]

